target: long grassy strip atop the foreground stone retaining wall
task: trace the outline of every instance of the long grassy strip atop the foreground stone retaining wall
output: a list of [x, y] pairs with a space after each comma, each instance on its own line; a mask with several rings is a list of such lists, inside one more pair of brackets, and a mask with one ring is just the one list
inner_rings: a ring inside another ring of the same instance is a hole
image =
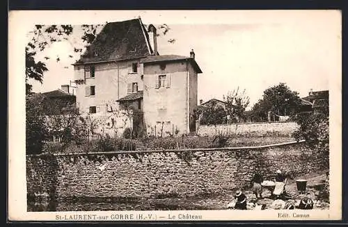
[[213, 147], [262, 146], [292, 142], [292, 137], [157, 137], [127, 140], [102, 137], [83, 144], [47, 142], [43, 153], [89, 153], [100, 151], [144, 151], [162, 149], [196, 149]]

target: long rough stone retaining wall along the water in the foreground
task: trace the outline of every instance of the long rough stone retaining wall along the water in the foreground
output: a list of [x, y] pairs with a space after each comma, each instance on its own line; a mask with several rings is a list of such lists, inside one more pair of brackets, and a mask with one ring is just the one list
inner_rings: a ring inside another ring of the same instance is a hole
[[232, 193], [249, 187], [255, 171], [270, 178], [283, 169], [297, 178], [327, 167], [327, 157], [296, 143], [243, 150], [27, 155], [26, 180], [28, 196], [154, 198]]

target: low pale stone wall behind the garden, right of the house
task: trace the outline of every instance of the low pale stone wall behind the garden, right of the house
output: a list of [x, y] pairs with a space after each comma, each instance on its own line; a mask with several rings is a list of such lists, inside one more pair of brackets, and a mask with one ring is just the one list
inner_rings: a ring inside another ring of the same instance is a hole
[[262, 122], [262, 123], [244, 123], [244, 124], [219, 124], [215, 126], [198, 126], [197, 134], [200, 136], [216, 135], [219, 133], [228, 133], [232, 135], [283, 135], [291, 136], [299, 127], [294, 121], [287, 122]]

